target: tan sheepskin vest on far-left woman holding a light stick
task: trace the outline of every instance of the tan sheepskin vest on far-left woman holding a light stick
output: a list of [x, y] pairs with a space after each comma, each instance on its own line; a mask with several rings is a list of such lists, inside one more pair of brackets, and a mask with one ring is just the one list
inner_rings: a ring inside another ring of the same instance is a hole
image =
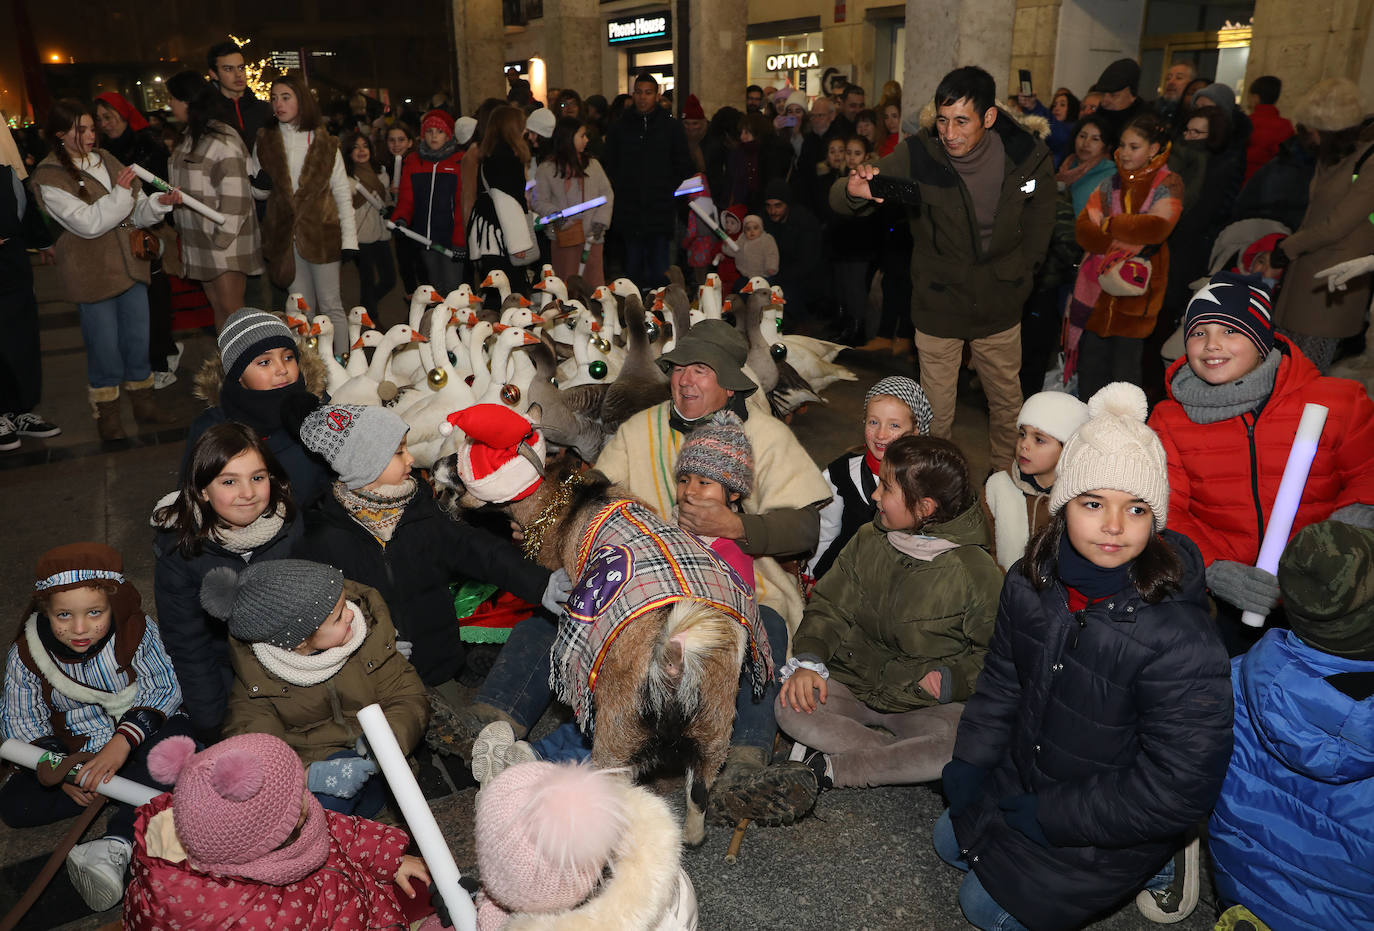
[[[120, 172], [124, 170], [124, 165], [103, 148], [95, 150], [93, 154], [100, 157], [104, 170], [110, 173], [111, 180], [118, 177]], [[103, 184], [85, 172], [81, 173], [81, 180], [85, 181], [85, 191], [91, 203], [110, 194]], [[40, 205], [43, 205], [43, 187], [54, 187], [59, 191], [66, 191], [71, 196], [81, 196], [81, 185], [77, 184], [77, 179], [71, 177], [66, 166], [58, 161], [56, 154], [49, 154], [33, 170], [32, 189], [38, 198]], [[139, 202], [139, 187], [137, 179], [133, 179], [129, 184], [135, 205]], [[43, 205], [43, 209], [47, 213], [52, 213], [47, 205]], [[63, 297], [67, 301], [74, 303], [96, 303], [124, 294], [136, 283], [148, 283], [148, 262], [135, 258], [133, 249], [129, 244], [129, 231], [133, 229], [132, 217], [133, 207], [131, 206], [129, 216], [118, 227], [95, 239], [82, 239], [73, 232], [62, 233], [56, 249], [58, 276], [62, 279]]]

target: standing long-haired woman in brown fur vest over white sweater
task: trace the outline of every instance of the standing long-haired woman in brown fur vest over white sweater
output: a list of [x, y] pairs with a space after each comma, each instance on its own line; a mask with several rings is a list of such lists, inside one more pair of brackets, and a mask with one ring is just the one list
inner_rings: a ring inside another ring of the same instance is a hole
[[339, 140], [301, 78], [272, 81], [272, 115], [253, 147], [253, 196], [267, 200], [262, 251], [272, 283], [300, 294], [334, 321], [334, 354], [348, 352], [339, 261], [357, 257], [353, 187]]

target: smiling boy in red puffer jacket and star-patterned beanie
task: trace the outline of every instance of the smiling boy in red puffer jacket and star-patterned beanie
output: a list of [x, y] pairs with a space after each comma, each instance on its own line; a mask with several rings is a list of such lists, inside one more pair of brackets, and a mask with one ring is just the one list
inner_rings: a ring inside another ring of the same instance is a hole
[[1270, 301], [1253, 276], [1213, 275], [1189, 302], [1187, 354], [1150, 416], [1169, 460], [1169, 529], [1202, 551], [1219, 601], [1264, 615], [1279, 584], [1254, 560], [1305, 405], [1330, 413], [1290, 536], [1327, 518], [1374, 527], [1374, 402], [1276, 336]]

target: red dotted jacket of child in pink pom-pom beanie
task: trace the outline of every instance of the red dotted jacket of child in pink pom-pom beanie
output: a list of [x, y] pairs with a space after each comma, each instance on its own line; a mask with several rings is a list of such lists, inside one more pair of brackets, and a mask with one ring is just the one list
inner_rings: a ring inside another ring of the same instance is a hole
[[401, 891], [392, 882], [408, 839], [367, 818], [326, 812], [330, 854], [324, 865], [290, 886], [209, 876], [184, 860], [147, 853], [148, 821], [172, 807], [165, 794], [139, 809], [133, 825], [132, 877], [124, 894], [124, 927], [334, 931], [408, 928]]

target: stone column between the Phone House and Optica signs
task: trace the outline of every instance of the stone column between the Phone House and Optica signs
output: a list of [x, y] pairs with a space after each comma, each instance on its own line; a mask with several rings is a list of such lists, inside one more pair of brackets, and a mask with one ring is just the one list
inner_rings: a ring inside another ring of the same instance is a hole
[[[679, 8], [679, 4], [673, 4], [675, 14]], [[691, 0], [690, 23], [673, 16], [673, 48], [680, 48], [686, 33], [691, 56], [688, 89], [697, 95], [708, 114], [727, 104], [743, 108], [745, 88], [749, 85], [745, 48], [747, 23], [749, 4], [741, 0]], [[682, 60], [680, 54], [677, 58]], [[676, 93], [673, 110], [682, 110]]]

